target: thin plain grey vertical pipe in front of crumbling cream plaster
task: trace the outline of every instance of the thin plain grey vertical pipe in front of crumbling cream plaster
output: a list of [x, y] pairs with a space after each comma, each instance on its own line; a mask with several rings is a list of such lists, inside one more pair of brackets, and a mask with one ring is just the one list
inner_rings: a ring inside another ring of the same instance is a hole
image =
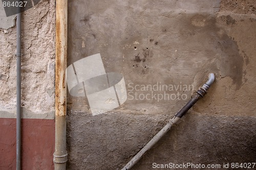
[[[19, 10], [19, 9], [18, 9]], [[20, 11], [17, 14], [17, 33], [16, 33], [16, 45], [17, 45], [17, 52], [16, 52], [16, 62], [17, 62], [17, 77], [16, 77], [16, 170], [20, 170], [20, 155], [21, 155], [21, 116], [20, 116], [20, 102], [21, 102], [21, 37], [22, 37], [22, 14]]]

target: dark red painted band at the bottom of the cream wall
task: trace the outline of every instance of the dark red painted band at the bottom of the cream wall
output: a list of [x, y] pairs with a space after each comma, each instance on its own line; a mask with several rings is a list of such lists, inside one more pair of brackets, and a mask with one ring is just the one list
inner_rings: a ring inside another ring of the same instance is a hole
[[[55, 122], [22, 119], [22, 169], [54, 169]], [[0, 169], [16, 169], [16, 119], [0, 118]]]

